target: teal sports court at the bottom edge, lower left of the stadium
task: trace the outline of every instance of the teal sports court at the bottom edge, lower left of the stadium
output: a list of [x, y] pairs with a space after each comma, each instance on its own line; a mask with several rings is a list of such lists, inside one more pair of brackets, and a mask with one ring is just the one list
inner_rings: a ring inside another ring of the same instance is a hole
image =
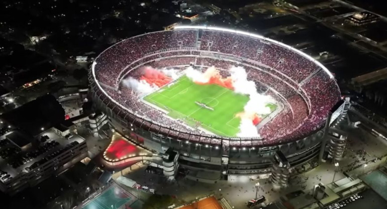
[[109, 189], [103, 191], [102, 194], [88, 202], [82, 209], [126, 208], [126, 206], [133, 204], [135, 200], [136, 198], [131, 193], [114, 184]]

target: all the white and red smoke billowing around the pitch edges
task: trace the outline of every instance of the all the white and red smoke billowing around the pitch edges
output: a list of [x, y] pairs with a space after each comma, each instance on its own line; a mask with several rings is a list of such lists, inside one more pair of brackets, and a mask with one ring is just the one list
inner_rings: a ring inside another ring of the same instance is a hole
[[[201, 72], [192, 67], [185, 70], [185, 75], [193, 82], [201, 85], [217, 84], [233, 90], [235, 93], [249, 96], [243, 112], [236, 114], [241, 119], [239, 126], [239, 137], [258, 137], [256, 125], [261, 122], [261, 116], [270, 114], [270, 108], [266, 107], [268, 102], [273, 102], [271, 96], [259, 94], [254, 81], [247, 80], [247, 72], [243, 67], [231, 67], [230, 76], [223, 78], [220, 71], [215, 67]], [[142, 69], [139, 79], [129, 77], [123, 80], [124, 86], [140, 94], [150, 93], [157, 88], [168, 84], [178, 78], [178, 70], [155, 69], [150, 66]]]

